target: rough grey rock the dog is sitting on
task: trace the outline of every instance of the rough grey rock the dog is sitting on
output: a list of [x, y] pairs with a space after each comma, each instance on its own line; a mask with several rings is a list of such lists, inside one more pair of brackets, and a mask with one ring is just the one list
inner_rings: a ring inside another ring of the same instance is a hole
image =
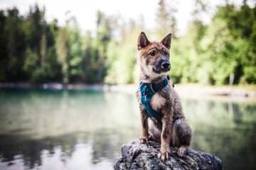
[[160, 144], [149, 141], [149, 145], [140, 144], [134, 140], [122, 146], [122, 158], [114, 165], [114, 169], [220, 169], [223, 165], [218, 157], [201, 151], [188, 149], [186, 156], [181, 158], [176, 154], [177, 148], [172, 148], [171, 158], [161, 162], [157, 158]]

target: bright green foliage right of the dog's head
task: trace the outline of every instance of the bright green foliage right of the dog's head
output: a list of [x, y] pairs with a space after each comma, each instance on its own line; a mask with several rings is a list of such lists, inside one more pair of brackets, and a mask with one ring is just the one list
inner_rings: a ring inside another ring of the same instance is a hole
[[254, 11], [246, 4], [240, 11], [227, 4], [219, 7], [209, 26], [196, 18], [187, 35], [172, 46], [170, 74], [174, 82], [228, 84], [234, 73], [235, 84], [255, 84]]

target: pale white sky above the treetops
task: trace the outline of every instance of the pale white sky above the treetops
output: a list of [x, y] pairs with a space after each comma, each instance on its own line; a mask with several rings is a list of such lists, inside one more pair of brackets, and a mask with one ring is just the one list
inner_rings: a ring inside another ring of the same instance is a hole
[[[178, 35], [186, 34], [188, 22], [191, 21], [191, 12], [195, 8], [194, 0], [166, 0], [177, 9], [176, 18]], [[215, 12], [216, 5], [225, 4], [224, 0], [205, 0], [209, 6], [208, 13], [203, 15], [203, 22], [210, 23], [210, 17]], [[229, 0], [236, 6], [242, 4], [242, 0]], [[95, 30], [96, 28], [96, 12], [98, 10], [106, 13], [108, 16], [117, 15], [118, 13], [129, 21], [129, 18], [137, 20], [140, 16], [144, 16], [145, 27], [154, 30], [156, 25], [156, 12], [159, 0], [0, 0], [0, 9], [12, 8], [16, 6], [21, 15], [26, 15], [29, 6], [38, 4], [39, 8], [46, 7], [46, 21], [53, 21], [58, 18], [58, 24], [64, 26], [65, 19], [75, 16], [78, 21], [80, 30], [85, 33], [86, 30]], [[248, 4], [253, 6], [255, 0], [248, 0]], [[68, 16], [65, 15], [67, 11]]]

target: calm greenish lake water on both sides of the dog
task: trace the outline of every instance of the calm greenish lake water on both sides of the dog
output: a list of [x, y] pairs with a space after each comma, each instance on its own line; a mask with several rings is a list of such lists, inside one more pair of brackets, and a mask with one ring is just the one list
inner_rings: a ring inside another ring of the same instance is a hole
[[[256, 101], [182, 98], [191, 149], [256, 169]], [[140, 136], [134, 95], [0, 89], [0, 169], [112, 169]]]

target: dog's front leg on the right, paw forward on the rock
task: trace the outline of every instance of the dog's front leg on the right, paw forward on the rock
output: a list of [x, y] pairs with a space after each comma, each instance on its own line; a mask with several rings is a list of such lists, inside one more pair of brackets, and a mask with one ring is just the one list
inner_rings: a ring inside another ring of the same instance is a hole
[[165, 162], [171, 156], [170, 141], [172, 116], [169, 113], [163, 114], [162, 123], [163, 127], [161, 131], [161, 149], [159, 153], [159, 159]]

